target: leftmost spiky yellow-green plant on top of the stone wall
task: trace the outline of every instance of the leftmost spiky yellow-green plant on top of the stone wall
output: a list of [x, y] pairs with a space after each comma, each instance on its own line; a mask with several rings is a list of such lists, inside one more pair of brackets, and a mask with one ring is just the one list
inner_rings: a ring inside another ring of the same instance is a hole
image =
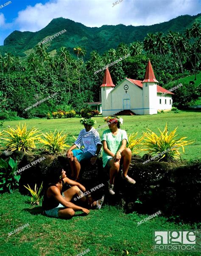
[[[7, 134], [3, 135], [3, 140], [7, 141], [6, 146], [8, 150], [15, 151], [29, 151], [30, 149], [35, 149], [35, 141], [39, 140], [41, 136], [39, 130], [36, 128], [27, 129], [26, 124], [22, 124], [22, 128], [17, 125], [17, 129], [8, 128], [7, 131], [4, 131]], [[6, 137], [6, 138], [4, 138]]]

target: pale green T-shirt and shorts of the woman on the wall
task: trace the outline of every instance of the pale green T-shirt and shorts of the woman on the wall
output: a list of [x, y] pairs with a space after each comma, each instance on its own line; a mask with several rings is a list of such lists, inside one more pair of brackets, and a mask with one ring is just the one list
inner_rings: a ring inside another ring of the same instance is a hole
[[[120, 146], [122, 145], [122, 141], [126, 140], [128, 144], [128, 137], [126, 134], [126, 131], [122, 130], [122, 129], [118, 129], [117, 134], [114, 136], [112, 134], [112, 132], [110, 131], [110, 129], [107, 129], [103, 132], [102, 135], [102, 141], [106, 141], [107, 142], [107, 147], [110, 151], [112, 151], [112, 153], [116, 154], [116, 152], [118, 151], [118, 149], [120, 148]], [[108, 155], [106, 152], [103, 151], [103, 167], [106, 166], [107, 161], [112, 158], [110, 155]]]

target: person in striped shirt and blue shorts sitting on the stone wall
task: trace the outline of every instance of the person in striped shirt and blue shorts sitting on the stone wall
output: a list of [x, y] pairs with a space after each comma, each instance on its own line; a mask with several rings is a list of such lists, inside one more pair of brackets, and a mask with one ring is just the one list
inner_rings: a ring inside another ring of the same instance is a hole
[[[84, 129], [81, 130], [77, 140], [66, 154], [70, 162], [73, 180], [78, 179], [81, 160], [91, 158], [91, 163], [94, 164], [102, 147], [99, 133], [92, 127], [96, 121], [93, 118], [81, 118], [80, 122], [84, 125]], [[84, 148], [81, 148], [83, 146]], [[75, 149], [76, 147], [79, 149]]]

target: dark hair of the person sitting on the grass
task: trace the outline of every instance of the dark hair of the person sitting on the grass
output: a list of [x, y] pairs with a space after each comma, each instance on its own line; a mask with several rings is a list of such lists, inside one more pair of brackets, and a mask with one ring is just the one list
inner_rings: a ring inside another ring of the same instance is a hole
[[47, 166], [47, 183], [57, 183], [59, 181], [59, 177], [61, 176], [62, 169], [64, 169], [64, 167], [61, 165], [61, 163], [59, 163], [58, 160], [53, 160], [50, 166]]

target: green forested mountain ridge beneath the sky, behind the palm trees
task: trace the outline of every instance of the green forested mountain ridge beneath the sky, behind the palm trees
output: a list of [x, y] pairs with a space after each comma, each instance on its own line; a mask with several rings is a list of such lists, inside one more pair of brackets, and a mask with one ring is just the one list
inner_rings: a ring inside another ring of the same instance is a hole
[[45, 38], [58, 33], [64, 29], [64, 34], [59, 35], [45, 43], [47, 51], [56, 52], [61, 46], [67, 47], [71, 53], [75, 46], [82, 46], [87, 50], [86, 58], [89, 58], [91, 51], [96, 50], [100, 54], [110, 48], [116, 48], [120, 42], [127, 44], [134, 41], [143, 41], [147, 33], [168, 31], [184, 32], [189, 28], [195, 20], [201, 21], [201, 14], [196, 16], [182, 15], [168, 22], [163, 22], [150, 26], [126, 26], [119, 25], [103, 25], [100, 28], [89, 28], [81, 23], [73, 20], [56, 18], [53, 19], [45, 28], [37, 32], [12, 32], [5, 40], [4, 45], [0, 46], [0, 53], [4, 54], [10, 51], [16, 56], [27, 56], [33, 52], [33, 48], [42, 42]]

